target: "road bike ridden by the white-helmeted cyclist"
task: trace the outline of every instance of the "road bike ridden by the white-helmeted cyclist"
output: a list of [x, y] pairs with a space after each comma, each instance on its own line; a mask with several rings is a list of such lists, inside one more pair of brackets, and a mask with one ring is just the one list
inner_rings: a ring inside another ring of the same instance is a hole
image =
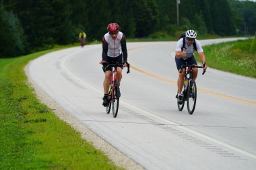
[[[183, 69], [185, 69], [185, 77], [184, 77], [184, 83], [183, 83], [183, 102], [178, 104], [179, 111], [182, 111], [185, 105], [185, 101], [187, 101], [187, 111], [189, 114], [193, 114], [195, 111], [195, 104], [197, 102], [197, 85], [195, 81], [193, 80], [193, 69], [192, 68], [203, 68], [201, 66], [197, 65], [187, 65], [187, 62], [185, 62], [186, 65], [183, 65], [181, 67], [180, 73], [183, 72]], [[202, 75], [204, 75], [205, 70], [203, 70]], [[178, 97], [178, 94], [176, 95]]]

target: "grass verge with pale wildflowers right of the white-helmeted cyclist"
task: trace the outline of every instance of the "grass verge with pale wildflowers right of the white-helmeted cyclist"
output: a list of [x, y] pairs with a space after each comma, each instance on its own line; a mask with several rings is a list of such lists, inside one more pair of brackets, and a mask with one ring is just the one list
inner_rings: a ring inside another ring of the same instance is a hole
[[[251, 48], [252, 42], [250, 39], [204, 46], [207, 65], [221, 71], [256, 78], [256, 48]], [[197, 52], [195, 54], [197, 61], [200, 61]]]

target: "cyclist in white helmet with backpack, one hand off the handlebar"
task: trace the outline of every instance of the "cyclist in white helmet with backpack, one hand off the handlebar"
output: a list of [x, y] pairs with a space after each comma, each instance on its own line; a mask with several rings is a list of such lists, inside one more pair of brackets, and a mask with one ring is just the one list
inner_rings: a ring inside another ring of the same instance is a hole
[[[197, 33], [194, 30], [187, 30], [186, 32], [186, 37], [185, 37], [185, 44], [183, 44], [183, 38], [181, 38], [177, 42], [176, 46], [176, 56], [175, 56], [175, 62], [177, 69], [179, 71], [179, 78], [177, 81], [178, 85], [178, 102], [180, 104], [183, 103], [183, 96], [181, 94], [182, 88], [183, 88], [183, 81], [185, 77], [185, 70], [183, 70], [182, 73], [181, 71], [181, 66], [185, 65], [185, 61], [188, 62], [188, 65], [197, 65], [197, 61], [195, 60], [194, 57], [194, 52], [197, 50], [197, 53], [201, 59], [203, 69], [207, 69], [207, 65], [205, 63], [205, 55], [203, 53], [203, 48], [201, 46], [201, 43], [195, 39], [197, 38]], [[197, 78], [197, 68], [193, 68], [193, 79]]]

